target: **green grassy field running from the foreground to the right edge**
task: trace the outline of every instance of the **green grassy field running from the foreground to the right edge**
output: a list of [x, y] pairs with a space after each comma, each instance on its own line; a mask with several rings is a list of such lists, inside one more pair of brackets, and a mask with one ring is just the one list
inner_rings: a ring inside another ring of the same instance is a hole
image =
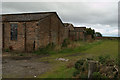
[[[100, 40], [92, 43], [77, 42], [80, 46], [63, 49], [57, 54], [52, 54], [49, 57], [41, 58], [40, 61], [49, 61], [52, 65], [52, 69], [42, 75], [39, 78], [71, 78], [75, 71], [74, 66], [67, 68], [69, 65], [79, 59], [94, 58], [97, 60], [98, 56], [109, 55], [112, 59], [118, 57], [118, 41], [117, 40]], [[68, 62], [62, 62], [55, 60], [56, 58], [63, 57], [69, 59]]]

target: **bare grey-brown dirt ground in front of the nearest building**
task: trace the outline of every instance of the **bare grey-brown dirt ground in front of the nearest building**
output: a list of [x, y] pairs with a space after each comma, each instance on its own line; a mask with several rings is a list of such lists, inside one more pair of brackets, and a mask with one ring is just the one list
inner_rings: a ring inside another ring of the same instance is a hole
[[49, 62], [37, 61], [45, 56], [11, 56], [3, 53], [3, 78], [33, 78], [51, 69]]

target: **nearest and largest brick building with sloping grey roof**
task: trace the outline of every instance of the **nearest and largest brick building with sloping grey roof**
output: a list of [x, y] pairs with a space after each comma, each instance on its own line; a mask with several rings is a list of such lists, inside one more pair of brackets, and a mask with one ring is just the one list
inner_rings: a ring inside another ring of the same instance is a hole
[[64, 24], [56, 12], [2, 15], [3, 49], [34, 51], [65, 39]]

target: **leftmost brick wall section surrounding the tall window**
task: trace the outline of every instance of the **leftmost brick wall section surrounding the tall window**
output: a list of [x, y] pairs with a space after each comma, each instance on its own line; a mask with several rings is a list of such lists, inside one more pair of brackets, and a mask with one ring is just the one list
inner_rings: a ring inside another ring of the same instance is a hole
[[24, 47], [24, 26], [23, 22], [14, 22], [18, 24], [18, 33], [17, 33], [17, 40], [11, 40], [11, 26], [10, 22], [5, 22], [4, 23], [4, 34], [3, 34], [3, 39], [4, 39], [4, 49], [9, 49], [12, 47], [13, 50], [19, 50], [23, 51], [25, 49]]

